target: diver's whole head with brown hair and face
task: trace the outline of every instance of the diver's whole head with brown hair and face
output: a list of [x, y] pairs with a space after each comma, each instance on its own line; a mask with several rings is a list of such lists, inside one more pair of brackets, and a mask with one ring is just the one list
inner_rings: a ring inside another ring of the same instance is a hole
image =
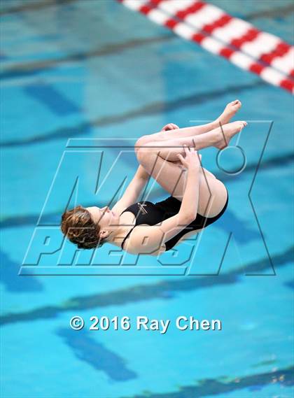
[[61, 229], [79, 249], [92, 249], [109, 241], [118, 225], [119, 216], [108, 206], [76, 206], [62, 214]]

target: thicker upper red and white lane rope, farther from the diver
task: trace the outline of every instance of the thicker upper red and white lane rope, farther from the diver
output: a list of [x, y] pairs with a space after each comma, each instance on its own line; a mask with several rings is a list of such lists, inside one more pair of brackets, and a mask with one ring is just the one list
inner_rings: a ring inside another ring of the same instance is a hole
[[294, 78], [294, 48], [273, 34], [198, 0], [149, 0], [172, 17], [214, 36], [254, 59]]

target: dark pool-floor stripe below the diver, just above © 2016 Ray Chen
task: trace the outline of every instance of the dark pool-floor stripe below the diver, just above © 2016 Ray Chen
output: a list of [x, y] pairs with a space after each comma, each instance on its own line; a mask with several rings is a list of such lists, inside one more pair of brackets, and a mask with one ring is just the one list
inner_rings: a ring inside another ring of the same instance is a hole
[[[272, 263], [276, 269], [286, 266], [293, 260], [293, 248], [288, 247], [283, 252], [272, 256]], [[124, 306], [125, 304], [138, 303], [155, 299], [172, 299], [173, 293], [190, 292], [221, 285], [232, 285], [241, 282], [241, 277], [246, 273], [259, 273], [269, 268], [268, 257], [246, 266], [232, 269], [218, 276], [186, 276], [181, 279], [162, 280], [150, 285], [134, 285], [126, 289], [110, 292], [77, 296], [61, 302], [59, 305], [42, 306], [27, 312], [8, 313], [0, 318], [0, 325], [8, 325], [17, 322], [32, 322], [40, 319], [57, 318], [59, 313], [67, 311], [85, 311], [90, 308], [102, 308], [108, 306]], [[268, 276], [267, 276], [268, 277]]]

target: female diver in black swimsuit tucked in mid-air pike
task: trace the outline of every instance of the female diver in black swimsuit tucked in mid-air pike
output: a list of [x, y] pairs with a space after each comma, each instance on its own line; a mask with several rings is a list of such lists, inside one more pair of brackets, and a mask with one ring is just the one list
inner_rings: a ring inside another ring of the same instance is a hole
[[[161, 132], [139, 138], [134, 148], [139, 168], [123, 197], [111, 210], [76, 206], [66, 211], [63, 234], [78, 248], [97, 248], [107, 242], [128, 253], [159, 255], [218, 220], [228, 205], [228, 191], [201, 166], [197, 150], [225, 148], [247, 125], [229, 123], [240, 107], [235, 100], [207, 125], [179, 129], [169, 124]], [[170, 196], [155, 204], [137, 202], [150, 176]]]

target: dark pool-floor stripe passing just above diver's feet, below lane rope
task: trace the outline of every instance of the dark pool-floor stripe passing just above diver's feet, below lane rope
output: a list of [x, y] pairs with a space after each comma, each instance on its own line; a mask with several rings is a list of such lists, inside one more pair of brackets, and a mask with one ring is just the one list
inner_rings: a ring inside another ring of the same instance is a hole
[[102, 118], [92, 120], [90, 122], [82, 122], [80, 125], [63, 127], [56, 129], [53, 132], [48, 132], [47, 134], [40, 134], [38, 136], [32, 136], [27, 138], [22, 138], [19, 140], [2, 141], [0, 143], [1, 148], [11, 148], [23, 145], [34, 145], [36, 143], [48, 142], [52, 140], [61, 140], [66, 138], [73, 138], [76, 136], [83, 136], [89, 133], [91, 127], [104, 127], [109, 125], [115, 125], [118, 123], [126, 122], [127, 120], [132, 120], [133, 118], [141, 118], [146, 115], [158, 115], [162, 112], [171, 112], [178, 110], [180, 108], [185, 108], [186, 106], [193, 106], [197, 104], [205, 104], [205, 102], [211, 101], [213, 99], [219, 99], [221, 96], [226, 96], [228, 94], [240, 94], [246, 90], [254, 90], [259, 87], [266, 86], [266, 83], [262, 80], [256, 80], [253, 83], [247, 83], [244, 85], [232, 85], [224, 87], [221, 90], [213, 90], [210, 92], [195, 93], [186, 97], [181, 97], [173, 101], [157, 101], [141, 106], [141, 108], [134, 109], [129, 112], [122, 113], [120, 115], [110, 115], [104, 116]]

